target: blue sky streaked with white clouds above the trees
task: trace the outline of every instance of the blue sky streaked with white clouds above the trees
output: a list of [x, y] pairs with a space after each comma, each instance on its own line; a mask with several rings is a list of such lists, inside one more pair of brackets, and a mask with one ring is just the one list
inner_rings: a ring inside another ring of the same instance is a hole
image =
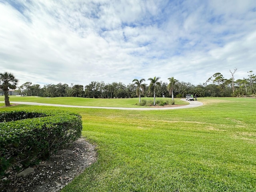
[[255, 0], [0, 0], [0, 72], [32, 84], [256, 73]]

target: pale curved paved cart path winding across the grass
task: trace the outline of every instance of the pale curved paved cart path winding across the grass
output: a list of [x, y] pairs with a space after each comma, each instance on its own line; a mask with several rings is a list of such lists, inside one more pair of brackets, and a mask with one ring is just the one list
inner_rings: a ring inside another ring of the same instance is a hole
[[[181, 99], [186, 101], [186, 99]], [[48, 104], [48, 103], [35, 103], [35, 102], [19, 102], [14, 101], [10, 103], [24, 104], [24, 105], [38, 105], [38, 106], [55, 106], [55, 107], [74, 107], [74, 108], [97, 108], [97, 109], [121, 109], [121, 110], [170, 110], [170, 109], [182, 109], [202, 106], [203, 104], [198, 101], [186, 101], [188, 105], [178, 107], [163, 107], [163, 108], [125, 108], [125, 107], [97, 107], [97, 106], [76, 106], [76, 105], [60, 105], [60, 104]], [[4, 103], [4, 102], [1, 102]]]

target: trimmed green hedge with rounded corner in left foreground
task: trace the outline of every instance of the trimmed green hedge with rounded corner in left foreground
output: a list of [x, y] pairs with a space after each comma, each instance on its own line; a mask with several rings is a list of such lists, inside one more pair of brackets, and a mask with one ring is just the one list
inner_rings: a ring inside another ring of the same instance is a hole
[[81, 116], [64, 111], [0, 112], [0, 176], [10, 166], [29, 166], [81, 136]]

